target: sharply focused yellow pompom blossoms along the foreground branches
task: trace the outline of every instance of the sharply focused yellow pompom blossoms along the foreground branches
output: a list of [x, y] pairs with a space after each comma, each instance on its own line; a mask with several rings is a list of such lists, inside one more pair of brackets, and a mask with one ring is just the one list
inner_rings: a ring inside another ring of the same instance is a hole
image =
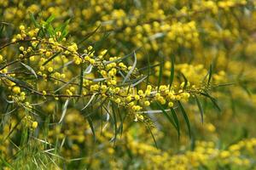
[[[26, 71], [30, 72], [8, 72], [10, 77], [1, 78], [3, 86], [9, 87], [9, 83], [12, 84], [14, 94], [9, 97], [15, 99], [16, 102], [24, 102], [28, 94], [38, 94], [43, 96], [43, 99], [53, 97], [56, 100], [60, 97], [91, 96], [92, 99], [98, 96], [125, 107], [137, 122], [137, 120], [144, 120], [148, 106], [154, 102], [173, 107], [176, 101], [187, 102], [190, 94], [198, 94], [204, 90], [201, 87], [190, 87], [189, 82], [186, 88], [183, 82], [179, 86], [147, 85], [144, 90], [137, 89], [134, 85], [137, 84], [137, 78], [144, 76], [132, 66], [125, 65], [121, 57], [108, 57], [106, 55], [108, 50], [105, 49], [96, 54], [90, 46], [84, 49], [84, 54], [79, 54], [78, 45], [74, 42], [70, 44], [65, 40], [58, 42], [57, 37], [32, 37], [34, 34], [30, 32], [38, 32], [38, 28], [25, 31], [25, 26], [20, 26], [20, 34], [17, 34], [11, 42], [11, 44], [19, 45], [20, 54], [15, 62], [26, 63], [29, 59], [30, 66], [23, 63], [22, 65]], [[32, 45], [30, 46], [27, 42], [31, 42]], [[81, 70], [80, 77], [76, 76], [76, 65], [84, 68]], [[6, 69], [12, 66], [8, 65]], [[21, 84], [13, 81], [24, 74], [36, 77], [36, 80], [27, 81], [27, 87], [20, 86]], [[100, 74], [100, 77], [96, 76], [97, 74]], [[124, 74], [126, 77], [122, 78]], [[127, 79], [131, 82], [127, 82]], [[38, 84], [38, 90], [32, 88], [35, 83]]]

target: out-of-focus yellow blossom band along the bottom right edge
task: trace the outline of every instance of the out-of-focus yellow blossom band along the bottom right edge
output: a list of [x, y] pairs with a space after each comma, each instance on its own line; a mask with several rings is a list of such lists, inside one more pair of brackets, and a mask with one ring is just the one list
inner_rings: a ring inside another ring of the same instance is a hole
[[145, 156], [145, 159], [148, 160], [145, 168], [149, 169], [194, 169], [199, 167], [215, 169], [225, 165], [234, 168], [249, 168], [253, 165], [253, 161], [247, 156], [255, 154], [255, 142], [255, 139], [245, 139], [230, 145], [227, 150], [221, 150], [213, 142], [196, 141], [194, 150], [184, 151], [177, 155], [134, 141], [131, 141], [130, 147], [133, 154]]

